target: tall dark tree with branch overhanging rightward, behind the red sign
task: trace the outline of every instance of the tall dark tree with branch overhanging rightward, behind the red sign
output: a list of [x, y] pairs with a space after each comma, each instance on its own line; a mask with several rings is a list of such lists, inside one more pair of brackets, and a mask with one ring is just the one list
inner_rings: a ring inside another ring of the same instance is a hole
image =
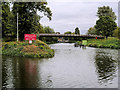
[[19, 37], [21, 40], [24, 34], [30, 34], [39, 31], [39, 20], [41, 16], [37, 12], [41, 12], [51, 20], [51, 10], [47, 7], [47, 2], [14, 2], [12, 12], [14, 14], [16, 26], [16, 15], [19, 14]]

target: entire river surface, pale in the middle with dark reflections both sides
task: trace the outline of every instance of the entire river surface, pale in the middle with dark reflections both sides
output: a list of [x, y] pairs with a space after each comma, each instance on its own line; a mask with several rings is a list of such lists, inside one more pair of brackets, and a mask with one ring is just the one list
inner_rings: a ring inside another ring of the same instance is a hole
[[118, 51], [52, 44], [48, 59], [3, 56], [6, 88], [117, 88]]

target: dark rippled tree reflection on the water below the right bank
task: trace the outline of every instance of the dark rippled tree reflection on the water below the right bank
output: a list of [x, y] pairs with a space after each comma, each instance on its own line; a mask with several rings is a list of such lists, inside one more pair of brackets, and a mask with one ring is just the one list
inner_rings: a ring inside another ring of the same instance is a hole
[[112, 81], [116, 76], [117, 60], [113, 59], [112, 55], [110, 51], [96, 51], [95, 64], [100, 83]]

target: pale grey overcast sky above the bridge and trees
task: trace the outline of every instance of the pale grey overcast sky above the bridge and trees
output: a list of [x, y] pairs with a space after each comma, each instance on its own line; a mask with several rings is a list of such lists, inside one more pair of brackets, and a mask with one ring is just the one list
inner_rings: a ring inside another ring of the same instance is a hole
[[[40, 20], [43, 26], [50, 26], [55, 32], [74, 32], [76, 27], [80, 28], [81, 34], [86, 34], [90, 27], [96, 24], [98, 7], [110, 6], [118, 16], [118, 0], [102, 2], [98, 0], [47, 0], [53, 16], [52, 20], [44, 17]], [[106, 0], [108, 1], [108, 0]], [[116, 21], [117, 22], [117, 21]]]

